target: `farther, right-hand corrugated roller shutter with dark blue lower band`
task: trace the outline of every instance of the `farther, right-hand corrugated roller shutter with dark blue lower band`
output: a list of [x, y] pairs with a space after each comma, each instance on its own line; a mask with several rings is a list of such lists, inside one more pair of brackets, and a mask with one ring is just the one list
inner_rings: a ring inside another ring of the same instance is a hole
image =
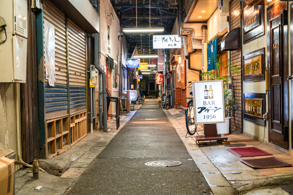
[[70, 114], [86, 109], [86, 35], [68, 19]]

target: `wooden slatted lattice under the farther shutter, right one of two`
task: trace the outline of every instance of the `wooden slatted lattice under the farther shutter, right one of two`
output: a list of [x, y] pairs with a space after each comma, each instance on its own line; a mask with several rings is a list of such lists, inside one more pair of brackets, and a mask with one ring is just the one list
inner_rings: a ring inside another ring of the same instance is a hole
[[70, 115], [71, 146], [87, 135], [86, 111]]

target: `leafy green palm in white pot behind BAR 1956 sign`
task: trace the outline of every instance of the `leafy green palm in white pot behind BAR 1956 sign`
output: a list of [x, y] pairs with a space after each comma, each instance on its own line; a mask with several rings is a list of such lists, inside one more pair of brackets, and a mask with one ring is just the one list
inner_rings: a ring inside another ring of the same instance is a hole
[[223, 80], [224, 87], [224, 103], [225, 103], [225, 123], [217, 123], [217, 132], [227, 135], [229, 134], [229, 123], [231, 118], [231, 110], [235, 106], [235, 102], [238, 101], [232, 98], [228, 89], [228, 84], [231, 83], [231, 73], [234, 75], [241, 74], [241, 68], [239, 65], [233, 65], [233, 63], [227, 63], [224, 61], [221, 55], [214, 56], [212, 60], [215, 62], [216, 69], [209, 72], [200, 73], [203, 80]]

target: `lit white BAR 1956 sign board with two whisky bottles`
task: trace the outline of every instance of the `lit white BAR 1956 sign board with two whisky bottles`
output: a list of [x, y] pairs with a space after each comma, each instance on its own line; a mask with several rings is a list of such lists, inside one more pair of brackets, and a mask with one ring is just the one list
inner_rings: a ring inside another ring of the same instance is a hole
[[195, 124], [225, 122], [223, 80], [193, 81]]

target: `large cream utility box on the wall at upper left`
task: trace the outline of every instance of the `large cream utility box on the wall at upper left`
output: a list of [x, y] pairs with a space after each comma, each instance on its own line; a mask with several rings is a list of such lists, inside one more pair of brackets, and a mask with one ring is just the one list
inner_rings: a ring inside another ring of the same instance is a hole
[[28, 0], [0, 0], [0, 16], [7, 26], [0, 31], [0, 82], [26, 80]]

